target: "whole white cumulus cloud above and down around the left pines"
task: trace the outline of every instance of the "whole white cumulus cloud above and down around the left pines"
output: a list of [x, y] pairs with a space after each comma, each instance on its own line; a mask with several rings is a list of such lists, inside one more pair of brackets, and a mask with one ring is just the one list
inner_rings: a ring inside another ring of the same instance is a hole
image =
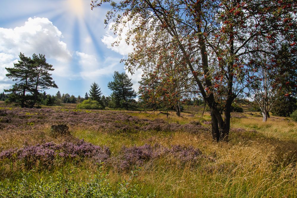
[[48, 18], [29, 18], [24, 26], [0, 28], [0, 89], [11, 86], [5, 67], [13, 67], [20, 52], [25, 56], [45, 54], [55, 63], [55, 73], [69, 74], [65, 71], [69, 69], [72, 55], [61, 38], [61, 31]]

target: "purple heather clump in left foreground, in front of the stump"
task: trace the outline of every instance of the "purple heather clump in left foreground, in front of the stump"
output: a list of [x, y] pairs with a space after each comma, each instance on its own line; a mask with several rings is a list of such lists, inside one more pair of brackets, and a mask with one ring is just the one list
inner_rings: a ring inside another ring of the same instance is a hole
[[46, 142], [44, 144], [24, 146], [23, 148], [8, 149], [0, 153], [0, 160], [21, 160], [26, 167], [31, 167], [37, 162], [41, 162], [43, 165], [51, 165], [57, 157], [62, 159], [89, 158], [96, 163], [100, 163], [106, 161], [109, 156], [110, 150], [108, 147], [102, 148], [79, 140], [76, 143], [63, 142], [56, 144]]

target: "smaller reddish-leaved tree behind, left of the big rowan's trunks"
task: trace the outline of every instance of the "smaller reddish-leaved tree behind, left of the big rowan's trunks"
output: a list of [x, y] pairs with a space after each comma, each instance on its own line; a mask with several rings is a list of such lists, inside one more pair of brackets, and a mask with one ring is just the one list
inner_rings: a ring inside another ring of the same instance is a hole
[[[175, 69], [177, 65], [173, 61], [168, 61], [166, 66], [170, 67], [170, 70], [160, 67], [158, 71], [143, 72], [139, 81], [139, 94], [145, 109], [173, 108], [176, 115], [181, 115], [181, 103], [195, 91], [187, 91], [192, 88], [187, 84], [190, 83], [190, 79], [184, 80], [185, 74]], [[150, 66], [150, 69], [156, 69], [156, 67]]]

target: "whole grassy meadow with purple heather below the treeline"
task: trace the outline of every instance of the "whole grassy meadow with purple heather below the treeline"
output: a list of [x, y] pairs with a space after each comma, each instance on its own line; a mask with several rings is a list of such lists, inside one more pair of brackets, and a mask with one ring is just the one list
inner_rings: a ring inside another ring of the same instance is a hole
[[217, 143], [202, 110], [0, 103], [0, 197], [297, 197], [296, 122], [232, 113], [229, 141]]

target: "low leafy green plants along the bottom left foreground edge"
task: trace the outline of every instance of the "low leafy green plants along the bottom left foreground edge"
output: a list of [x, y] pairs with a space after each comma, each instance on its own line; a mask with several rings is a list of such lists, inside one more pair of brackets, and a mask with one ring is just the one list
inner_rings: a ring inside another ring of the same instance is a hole
[[[89, 181], [76, 182], [58, 171], [56, 177], [32, 180], [34, 171], [25, 172], [18, 182], [6, 180], [0, 182], [0, 197], [114, 197], [136, 198], [141, 196], [141, 187], [131, 184], [130, 177], [112, 186], [107, 179], [107, 174], [100, 171], [98, 175]], [[137, 175], [135, 175], [137, 176]], [[156, 197], [147, 194], [145, 197]]]

